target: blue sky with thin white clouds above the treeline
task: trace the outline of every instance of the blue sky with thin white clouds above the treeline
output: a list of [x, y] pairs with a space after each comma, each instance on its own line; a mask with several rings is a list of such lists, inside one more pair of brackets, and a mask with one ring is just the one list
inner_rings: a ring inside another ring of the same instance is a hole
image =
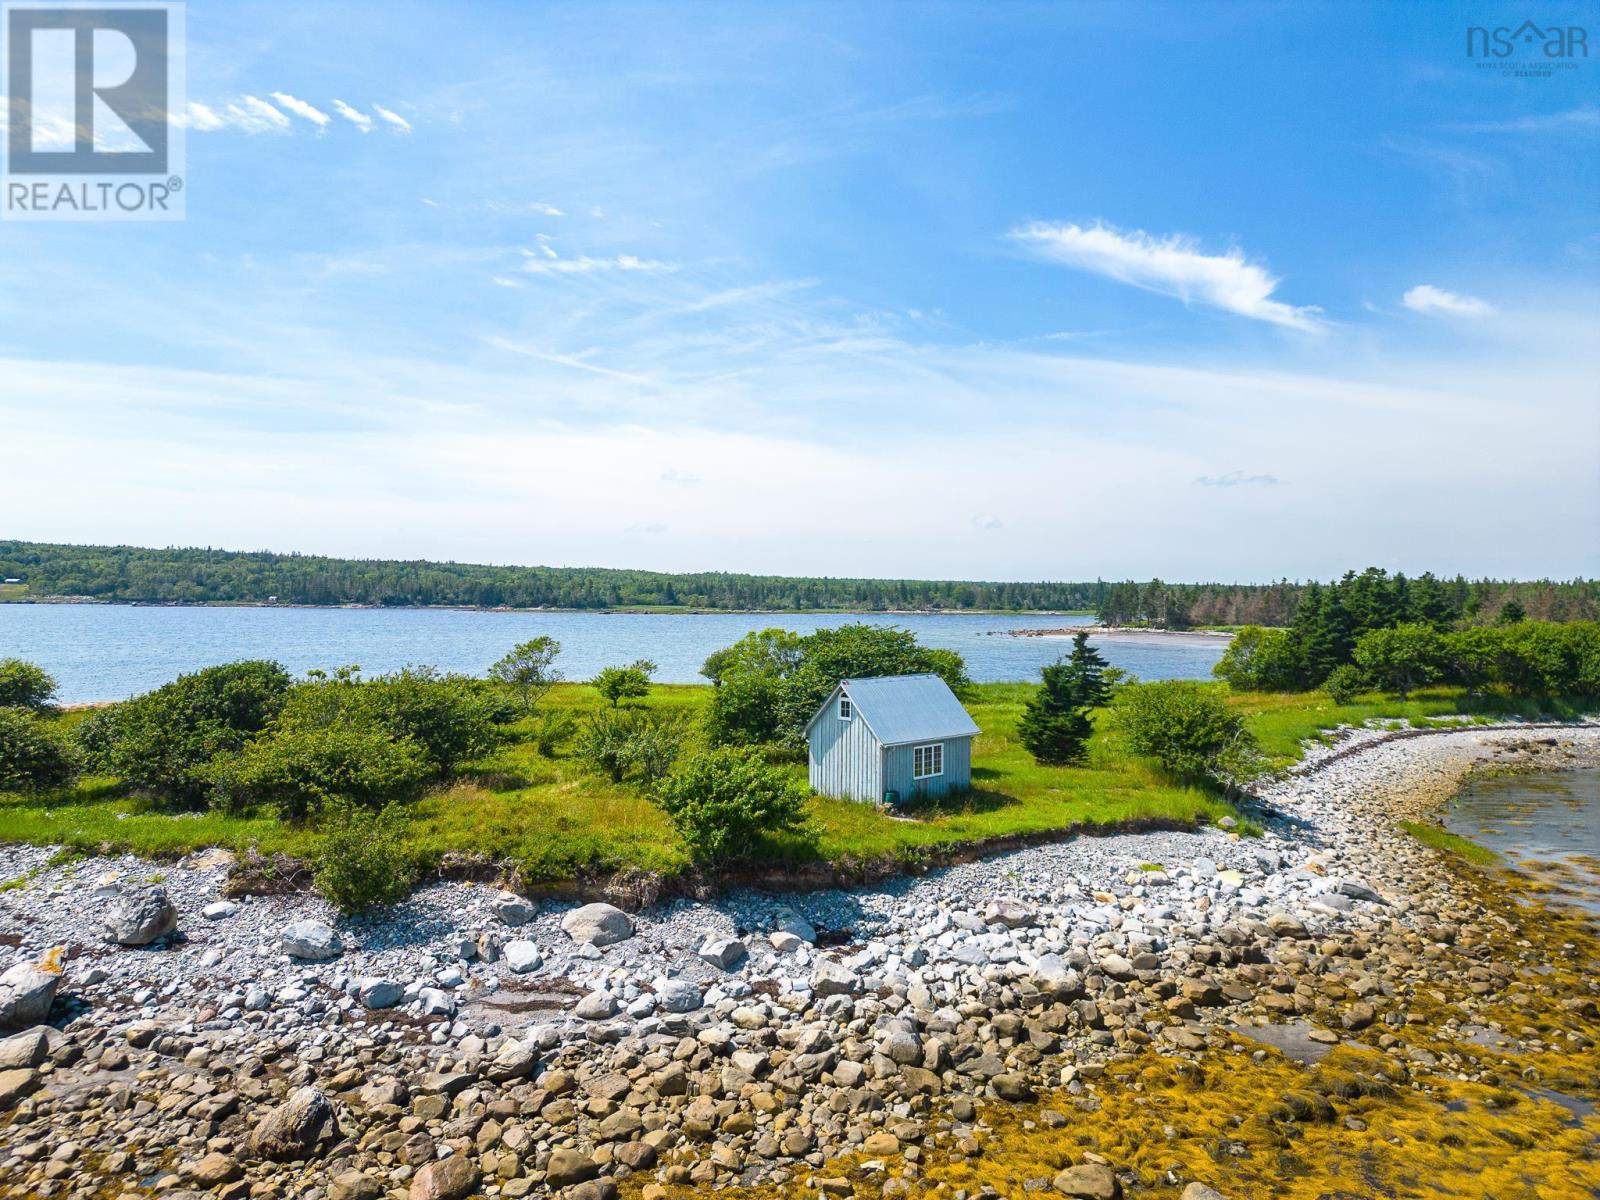
[[1600, 8], [1467, 58], [1530, 14], [195, 0], [187, 219], [0, 222], [0, 536], [1597, 576]]

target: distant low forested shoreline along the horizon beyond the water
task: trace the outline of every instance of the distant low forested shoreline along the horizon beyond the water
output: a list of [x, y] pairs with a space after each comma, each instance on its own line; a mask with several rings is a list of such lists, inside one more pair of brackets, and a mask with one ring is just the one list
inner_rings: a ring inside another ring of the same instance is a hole
[[[1373, 579], [1381, 576], [1381, 587]], [[965, 582], [957, 579], [808, 579], [706, 571], [664, 574], [586, 566], [323, 558], [211, 549], [51, 546], [0, 539], [3, 598], [90, 597], [141, 603], [477, 605], [485, 608], [712, 608], [726, 611], [1067, 611], [1109, 624], [1184, 629], [1197, 624], [1286, 626], [1317, 586], [1149, 582]], [[1510, 602], [1549, 621], [1600, 616], [1600, 584], [1493, 579], [1406, 581], [1366, 571], [1355, 595], [1384, 597], [1426, 619], [1486, 621]], [[1357, 595], [1358, 594], [1358, 595]], [[1366, 603], [1362, 598], [1362, 603]], [[1437, 610], [1437, 613], [1435, 613]]]

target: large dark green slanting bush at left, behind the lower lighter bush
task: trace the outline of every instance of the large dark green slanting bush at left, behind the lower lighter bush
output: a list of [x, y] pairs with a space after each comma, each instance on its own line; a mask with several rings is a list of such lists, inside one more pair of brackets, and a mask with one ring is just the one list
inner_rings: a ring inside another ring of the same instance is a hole
[[283, 709], [290, 677], [277, 662], [229, 662], [179, 675], [96, 718], [104, 770], [178, 805], [211, 790], [211, 760], [238, 750]]

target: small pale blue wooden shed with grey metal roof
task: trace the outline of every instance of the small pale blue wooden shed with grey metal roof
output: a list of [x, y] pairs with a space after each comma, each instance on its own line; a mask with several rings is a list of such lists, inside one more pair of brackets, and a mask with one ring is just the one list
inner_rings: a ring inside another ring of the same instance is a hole
[[811, 787], [899, 803], [973, 782], [978, 725], [938, 675], [843, 680], [806, 725]]

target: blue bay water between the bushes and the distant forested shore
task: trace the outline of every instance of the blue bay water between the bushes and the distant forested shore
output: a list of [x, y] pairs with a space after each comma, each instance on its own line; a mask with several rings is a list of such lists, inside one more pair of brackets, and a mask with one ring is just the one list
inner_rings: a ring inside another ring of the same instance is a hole
[[[38, 662], [61, 682], [61, 702], [123, 699], [186, 670], [270, 658], [293, 672], [360, 664], [366, 674], [408, 662], [482, 675], [518, 642], [549, 634], [560, 669], [589, 678], [600, 667], [654, 659], [662, 683], [702, 683], [701, 662], [754, 629], [802, 634], [851, 621], [899, 626], [930, 646], [960, 651], [974, 680], [1035, 678], [1066, 638], [1003, 637], [1006, 629], [1088, 624], [1070, 616], [707, 616], [643, 613], [474, 613], [427, 608], [133, 608], [0, 605], [0, 658]], [[1208, 678], [1221, 638], [1109, 638], [1106, 659], [1139, 678]]]

